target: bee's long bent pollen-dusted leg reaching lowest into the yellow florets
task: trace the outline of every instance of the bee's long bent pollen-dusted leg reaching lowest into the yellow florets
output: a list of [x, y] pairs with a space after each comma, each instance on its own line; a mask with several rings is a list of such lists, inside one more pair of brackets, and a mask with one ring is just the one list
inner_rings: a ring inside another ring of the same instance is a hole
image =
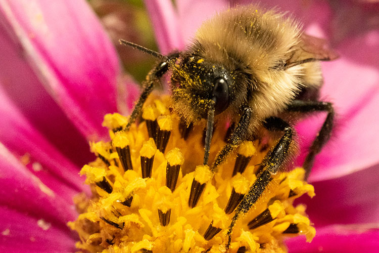
[[279, 139], [274, 147], [263, 158], [260, 165], [260, 172], [257, 175], [257, 179], [250, 187], [248, 193], [243, 197], [239, 205], [235, 209], [234, 216], [229, 225], [227, 231], [229, 247], [231, 241], [231, 232], [233, 230], [235, 222], [239, 219], [241, 214], [245, 214], [249, 211], [251, 206], [257, 202], [267, 185], [272, 181], [272, 175], [277, 173], [283, 164], [289, 159], [290, 147], [293, 142], [293, 129], [286, 121], [278, 117], [266, 118], [263, 122], [266, 129], [270, 131], [282, 131], [284, 134]]

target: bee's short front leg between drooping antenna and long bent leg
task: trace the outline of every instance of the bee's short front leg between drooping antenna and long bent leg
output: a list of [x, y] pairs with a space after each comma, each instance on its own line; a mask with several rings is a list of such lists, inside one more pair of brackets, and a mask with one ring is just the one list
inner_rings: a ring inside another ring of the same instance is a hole
[[216, 170], [216, 167], [220, 165], [225, 158], [230, 154], [230, 152], [236, 146], [240, 145], [241, 142], [245, 141], [248, 135], [248, 129], [251, 118], [251, 108], [246, 106], [243, 110], [240, 121], [236, 125], [233, 134], [227, 141], [227, 144], [218, 152], [215, 161], [212, 164], [212, 171]]

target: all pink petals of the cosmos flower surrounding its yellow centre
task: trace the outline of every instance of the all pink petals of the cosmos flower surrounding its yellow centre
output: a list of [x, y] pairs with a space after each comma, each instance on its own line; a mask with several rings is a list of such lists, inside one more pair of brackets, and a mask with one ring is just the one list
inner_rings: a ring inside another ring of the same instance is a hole
[[[183, 48], [202, 20], [227, 1], [182, 0], [177, 11], [168, 0], [146, 4], [160, 51], [168, 53]], [[323, 63], [322, 96], [336, 105], [337, 130], [309, 178], [316, 196], [301, 201], [317, 233], [310, 244], [299, 237], [289, 240], [290, 252], [376, 252], [377, 5], [270, 5], [294, 13], [308, 33], [329, 39], [341, 54]], [[77, 217], [72, 197], [89, 193], [78, 176], [93, 159], [87, 141], [107, 138], [103, 116], [126, 111], [118, 98], [135, 96], [137, 88], [120, 81], [116, 52], [84, 1], [0, 1], [0, 12], [0, 250], [72, 252], [77, 238], [66, 223]], [[361, 23], [348, 14], [356, 14]], [[362, 18], [367, 14], [370, 19]], [[350, 28], [339, 29], [347, 21]], [[119, 94], [118, 85], [129, 93]], [[319, 128], [314, 120], [298, 126], [304, 147]]]

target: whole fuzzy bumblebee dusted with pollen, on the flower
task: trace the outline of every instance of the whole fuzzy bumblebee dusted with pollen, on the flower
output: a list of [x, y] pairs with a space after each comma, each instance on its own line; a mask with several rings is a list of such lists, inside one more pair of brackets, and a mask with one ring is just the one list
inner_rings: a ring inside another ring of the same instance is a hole
[[[256, 181], [235, 208], [229, 243], [236, 220], [248, 212], [272, 175], [292, 158], [296, 132], [286, 119], [323, 111], [327, 116], [303, 164], [309, 175], [315, 155], [330, 137], [335, 115], [331, 103], [319, 101], [323, 83], [320, 61], [338, 57], [324, 40], [304, 34], [296, 21], [276, 10], [240, 6], [204, 22], [182, 52], [164, 56], [125, 40], [120, 43], [160, 60], [146, 78], [126, 130], [141, 113], [154, 84], [169, 73], [175, 112], [187, 125], [207, 120], [204, 164], [209, 163], [214, 122], [236, 122], [210, 165], [211, 171], [241, 142], [259, 137], [262, 129], [279, 135], [259, 165]], [[193, 190], [191, 194], [195, 194]]]

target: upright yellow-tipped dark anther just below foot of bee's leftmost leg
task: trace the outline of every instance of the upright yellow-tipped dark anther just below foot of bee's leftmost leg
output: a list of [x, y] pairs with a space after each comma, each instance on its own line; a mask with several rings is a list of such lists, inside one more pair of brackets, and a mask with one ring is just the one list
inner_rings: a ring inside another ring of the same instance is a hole
[[133, 165], [131, 163], [129, 139], [125, 132], [117, 132], [112, 140], [113, 147], [116, 148], [118, 157], [124, 168], [124, 171], [133, 170]]

